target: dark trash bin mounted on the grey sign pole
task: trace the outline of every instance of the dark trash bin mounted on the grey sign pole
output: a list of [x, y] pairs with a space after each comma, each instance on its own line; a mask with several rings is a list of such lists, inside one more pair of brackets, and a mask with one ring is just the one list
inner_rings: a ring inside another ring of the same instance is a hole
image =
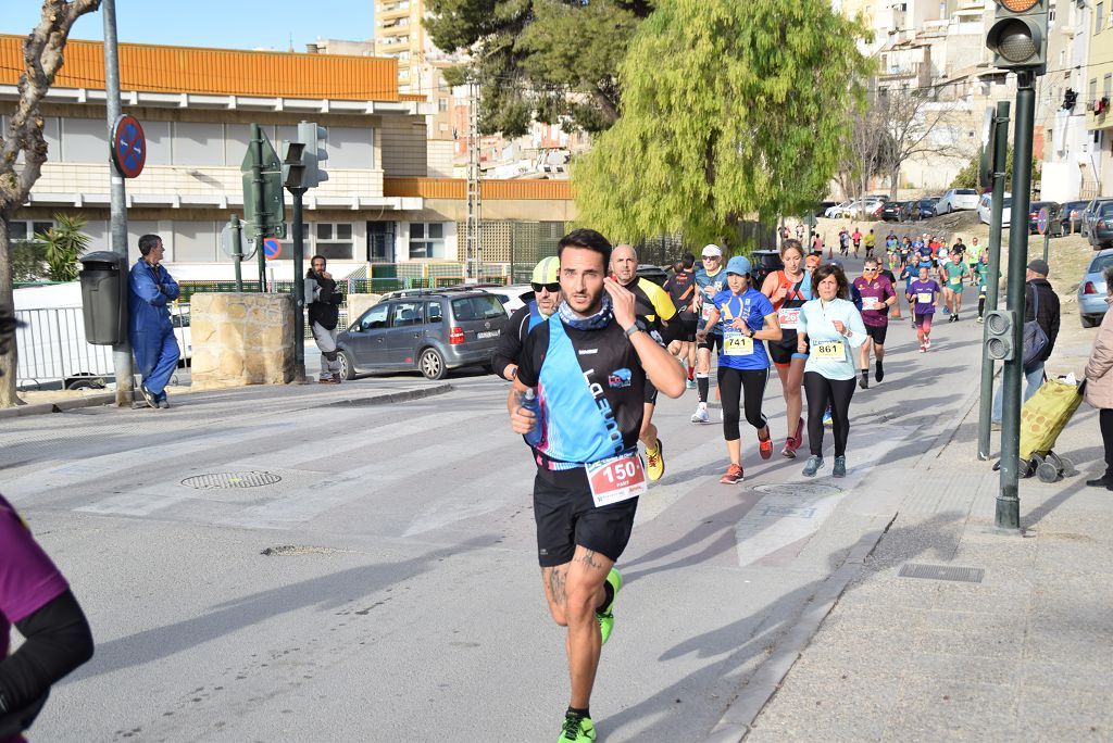
[[81, 256], [81, 309], [85, 339], [115, 346], [128, 337], [128, 261], [109, 250]]

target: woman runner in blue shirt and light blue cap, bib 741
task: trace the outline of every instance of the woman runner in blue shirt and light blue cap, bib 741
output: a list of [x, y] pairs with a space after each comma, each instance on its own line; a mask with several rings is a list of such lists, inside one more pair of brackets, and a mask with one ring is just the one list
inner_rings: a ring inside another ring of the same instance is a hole
[[722, 318], [719, 350], [719, 395], [722, 399], [722, 432], [730, 465], [719, 479], [725, 485], [742, 482], [741, 436], [738, 424], [743, 404], [746, 419], [758, 432], [762, 459], [772, 456], [769, 422], [761, 414], [761, 398], [769, 382], [769, 355], [762, 340], [779, 340], [777, 310], [769, 298], [750, 286], [750, 261], [735, 256], [727, 264], [727, 288], [715, 295], [707, 326], [696, 334], [701, 340]]

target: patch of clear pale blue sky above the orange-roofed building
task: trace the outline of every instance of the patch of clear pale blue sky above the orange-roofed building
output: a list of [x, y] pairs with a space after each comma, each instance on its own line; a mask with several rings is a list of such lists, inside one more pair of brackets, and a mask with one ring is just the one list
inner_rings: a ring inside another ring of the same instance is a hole
[[[26, 36], [39, 22], [40, 0], [0, 0], [0, 33]], [[294, 51], [322, 39], [374, 37], [374, 0], [116, 0], [120, 41], [224, 49]], [[81, 17], [71, 39], [105, 38], [98, 11]]]

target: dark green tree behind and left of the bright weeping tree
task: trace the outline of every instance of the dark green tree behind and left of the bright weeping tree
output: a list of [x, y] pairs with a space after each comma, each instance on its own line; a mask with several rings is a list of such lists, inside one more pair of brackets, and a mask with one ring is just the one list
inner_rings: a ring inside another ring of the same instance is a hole
[[618, 118], [617, 69], [651, 0], [429, 0], [425, 28], [471, 62], [450, 85], [480, 83], [480, 130], [516, 137], [536, 118], [601, 131]]

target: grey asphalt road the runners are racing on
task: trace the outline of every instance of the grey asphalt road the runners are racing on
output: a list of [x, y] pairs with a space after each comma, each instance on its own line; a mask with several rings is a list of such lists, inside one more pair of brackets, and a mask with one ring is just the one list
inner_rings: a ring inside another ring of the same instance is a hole
[[[979, 330], [973, 314], [937, 324], [925, 355], [908, 321], [894, 323], [885, 382], [854, 398], [841, 481], [829, 465], [806, 481], [802, 458], [760, 460], [743, 428], [746, 481], [720, 485], [721, 426], [689, 423], [695, 390], [663, 400], [668, 470], [619, 565], [627, 585], [592, 700], [601, 740], [699, 740], [757, 693], [748, 682], [820, 582], [892, 518], [863, 496], [932, 456], [968, 404]], [[432, 383], [6, 420], [0, 488], [72, 583], [98, 644], [36, 736], [554, 737], [568, 681], [534, 556], [532, 465], [506, 425], [505, 383], [452, 382], [375, 407], [341, 400]], [[766, 410], [779, 450], [776, 375]], [[275, 482], [204, 487], [229, 473]]]

